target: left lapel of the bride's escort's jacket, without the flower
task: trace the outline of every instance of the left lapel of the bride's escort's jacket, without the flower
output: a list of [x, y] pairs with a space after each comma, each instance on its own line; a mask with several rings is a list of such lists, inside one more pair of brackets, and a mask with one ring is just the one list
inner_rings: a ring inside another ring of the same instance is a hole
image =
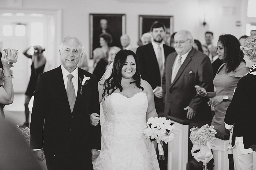
[[55, 84], [55, 89], [59, 94], [59, 98], [63, 101], [63, 105], [67, 107], [67, 110], [70, 110], [68, 96], [63, 81], [61, 66], [57, 68], [56, 74], [54, 75], [53, 83]]

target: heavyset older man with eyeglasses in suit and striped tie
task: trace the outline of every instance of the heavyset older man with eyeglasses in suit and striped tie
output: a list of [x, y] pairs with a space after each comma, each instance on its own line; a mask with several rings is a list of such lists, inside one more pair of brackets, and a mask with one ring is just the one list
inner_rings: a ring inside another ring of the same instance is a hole
[[209, 57], [193, 48], [189, 31], [178, 31], [174, 48], [165, 62], [162, 77], [165, 116], [191, 121], [211, 120], [209, 98], [200, 97], [195, 85], [213, 91], [213, 71]]

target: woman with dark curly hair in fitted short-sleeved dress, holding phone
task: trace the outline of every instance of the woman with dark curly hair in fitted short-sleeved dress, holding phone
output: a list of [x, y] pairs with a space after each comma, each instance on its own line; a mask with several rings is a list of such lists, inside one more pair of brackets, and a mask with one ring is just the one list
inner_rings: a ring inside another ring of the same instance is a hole
[[219, 36], [217, 53], [224, 63], [219, 67], [213, 80], [216, 92], [206, 92], [204, 89], [197, 90], [202, 97], [212, 98], [208, 102], [214, 107], [215, 115], [212, 119], [214, 129], [224, 135], [229, 134], [225, 128], [224, 118], [227, 108], [232, 101], [234, 88], [237, 82], [248, 72], [243, 60], [243, 52], [240, 50], [238, 39], [230, 34]]

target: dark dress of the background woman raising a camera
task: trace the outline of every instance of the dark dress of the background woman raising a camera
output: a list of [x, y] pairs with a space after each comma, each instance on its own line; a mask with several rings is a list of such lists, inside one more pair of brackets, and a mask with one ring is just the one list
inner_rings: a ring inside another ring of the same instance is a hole
[[43, 64], [42, 66], [38, 67], [37, 69], [34, 68], [34, 63], [32, 63], [31, 65], [31, 76], [30, 76], [30, 80], [28, 83], [28, 88], [27, 91], [25, 93], [25, 95], [32, 97], [33, 96], [33, 92], [35, 91], [35, 85], [37, 85], [37, 79], [39, 74], [44, 72], [44, 66], [45, 64]]

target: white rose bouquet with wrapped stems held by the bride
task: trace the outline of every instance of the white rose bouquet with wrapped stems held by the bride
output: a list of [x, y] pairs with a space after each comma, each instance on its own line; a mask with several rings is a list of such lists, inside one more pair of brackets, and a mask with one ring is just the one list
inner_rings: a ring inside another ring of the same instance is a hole
[[143, 134], [147, 139], [151, 141], [156, 141], [158, 144], [159, 150], [159, 159], [164, 160], [165, 156], [163, 155], [163, 142], [171, 143], [174, 140], [174, 126], [173, 122], [167, 120], [166, 118], [149, 118], [147, 124], [145, 125], [145, 130]]

